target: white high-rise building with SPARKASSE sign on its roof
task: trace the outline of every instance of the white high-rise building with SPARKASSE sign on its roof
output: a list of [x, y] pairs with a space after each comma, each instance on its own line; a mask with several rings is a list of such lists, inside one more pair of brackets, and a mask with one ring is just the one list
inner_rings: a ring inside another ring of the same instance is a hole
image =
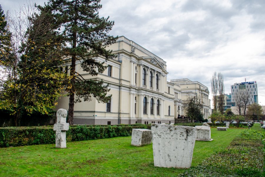
[[[250, 96], [249, 104], [256, 103], [258, 104], [258, 84], [256, 81], [251, 82], [241, 82], [241, 83], [234, 83], [231, 85], [231, 102], [236, 102], [236, 96], [239, 94], [240, 91], [248, 92]], [[236, 103], [235, 103], [236, 105]]]

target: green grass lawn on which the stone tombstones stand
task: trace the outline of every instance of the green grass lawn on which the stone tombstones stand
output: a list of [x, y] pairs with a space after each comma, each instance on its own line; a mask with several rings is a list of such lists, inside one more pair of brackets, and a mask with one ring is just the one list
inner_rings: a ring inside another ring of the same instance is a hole
[[[244, 129], [217, 131], [213, 141], [196, 141], [192, 166], [224, 150]], [[131, 137], [0, 148], [0, 176], [176, 176], [184, 170], [154, 167], [152, 144], [130, 145]]]

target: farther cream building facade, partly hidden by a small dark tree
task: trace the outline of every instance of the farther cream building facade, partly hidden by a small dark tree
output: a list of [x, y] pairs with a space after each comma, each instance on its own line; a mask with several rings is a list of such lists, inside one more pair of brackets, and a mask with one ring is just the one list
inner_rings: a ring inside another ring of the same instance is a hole
[[[175, 83], [180, 86], [181, 100], [187, 100], [188, 95], [201, 96], [204, 118], [208, 118], [211, 115], [211, 100], [209, 99], [209, 90], [205, 85], [198, 81], [193, 82], [187, 78], [173, 79], [170, 80], [170, 83]], [[186, 115], [185, 111], [183, 115]]]

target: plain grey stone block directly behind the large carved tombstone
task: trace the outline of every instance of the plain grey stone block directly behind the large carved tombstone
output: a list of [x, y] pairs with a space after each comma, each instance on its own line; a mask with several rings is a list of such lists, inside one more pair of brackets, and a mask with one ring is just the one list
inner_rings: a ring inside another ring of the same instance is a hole
[[152, 131], [148, 129], [132, 129], [132, 141], [133, 146], [143, 146], [151, 144]]

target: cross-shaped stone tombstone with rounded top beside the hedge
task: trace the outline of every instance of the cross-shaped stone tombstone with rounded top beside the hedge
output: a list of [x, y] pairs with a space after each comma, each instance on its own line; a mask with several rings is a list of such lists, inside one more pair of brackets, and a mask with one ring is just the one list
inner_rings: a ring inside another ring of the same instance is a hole
[[66, 123], [66, 116], [67, 111], [65, 109], [59, 109], [56, 112], [57, 123], [53, 126], [53, 130], [56, 131], [56, 148], [66, 148], [66, 131], [69, 130], [69, 123]]

